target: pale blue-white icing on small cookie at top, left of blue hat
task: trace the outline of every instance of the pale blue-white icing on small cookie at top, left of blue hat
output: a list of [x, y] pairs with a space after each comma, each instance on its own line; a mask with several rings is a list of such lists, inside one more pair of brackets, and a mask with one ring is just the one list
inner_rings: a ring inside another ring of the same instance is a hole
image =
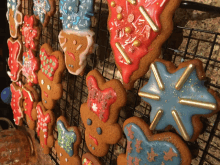
[[34, 0], [34, 15], [39, 16], [40, 22], [44, 23], [45, 15], [50, 11], [48, 0]]

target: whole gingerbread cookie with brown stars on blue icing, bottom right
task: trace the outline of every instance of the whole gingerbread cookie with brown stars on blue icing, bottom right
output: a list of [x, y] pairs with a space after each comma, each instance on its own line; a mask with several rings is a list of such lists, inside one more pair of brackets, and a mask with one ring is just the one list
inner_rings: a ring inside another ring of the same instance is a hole
[[124, 124], [127, 138], [126, 154], [120, 154], [120, 165], [190, 165], [191, 155], [185, 143], [174, 133], [153, 135], [149, 126], [138, 117]]

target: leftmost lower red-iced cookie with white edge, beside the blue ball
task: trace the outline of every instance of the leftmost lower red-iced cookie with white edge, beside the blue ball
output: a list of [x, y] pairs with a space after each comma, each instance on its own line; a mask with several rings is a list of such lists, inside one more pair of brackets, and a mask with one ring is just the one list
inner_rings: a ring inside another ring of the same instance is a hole
[[23, 112], [22, 112], [22, 92], [21, 87], [16, 83], [10, 84], [11, 89], [11, 109], [14, 114], [14, 122], [16, 125], [21, 126], [23, 123]]

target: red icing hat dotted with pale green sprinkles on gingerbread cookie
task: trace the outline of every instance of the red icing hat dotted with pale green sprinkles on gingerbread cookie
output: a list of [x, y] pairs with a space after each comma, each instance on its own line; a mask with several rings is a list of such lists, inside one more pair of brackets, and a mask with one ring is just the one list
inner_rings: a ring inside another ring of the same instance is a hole
[[59, 62], [55, 56], [49, 56], [44, 48], [40, 51], [41, 71], [50, 81], [59, 67]]

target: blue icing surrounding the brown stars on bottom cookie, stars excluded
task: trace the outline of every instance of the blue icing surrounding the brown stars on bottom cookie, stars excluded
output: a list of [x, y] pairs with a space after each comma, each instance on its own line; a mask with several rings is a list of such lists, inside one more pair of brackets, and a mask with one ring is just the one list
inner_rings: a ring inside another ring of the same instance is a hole
[[[128, 136], [128, 130], [127, 127], [131, 126], [131, 130], [134, 132], [134, 138], [131, 139]], [[162, 162], [165, 165], [178, 165], [181, 163], [181, 158], [180, 158], [180, 154], [179, 151], [177, 150], [177, 148], [169, 142], [166, 141], [148, 141], [148, 139], [146, 138], [146, 136], [144, 135], [143, 131], [140, 129], [140, 127], [134, 123], [129, 123], [124, 127], [124, 132], [125, 135], [127, 137], [128, 141], [131, 141], [131, 153], [129, 153], [127, 151], [127, 160], [129, 159], [129, 156], [133, 158], [132, 162], [135, 162], [135, 157], [138, 159], [141, 159], [141, 161], [139, 162], [139, 165], [145, 165], [145, 164], [150, 164], [150, 165], [160, 165], [162, 164]], [[141, 140], [141, 147], [142, 150], [140, 150], [140, 153], [136, 152], [136, 139]], [[147, 153], [151, 153], [151, 148], [153, 148], [153, 151], [158, 154], [158, 156], [154, 157], [155, 161], [149, 162], [148, 160], [148, 154]], [[173, 153], [177, 154], [176, 156], [172, 157], [172, 161], [168, 160], [165, 161], [164, 160], [164, 152], [168, 152], [170, 150], [170, 148], [172, 148]]]

